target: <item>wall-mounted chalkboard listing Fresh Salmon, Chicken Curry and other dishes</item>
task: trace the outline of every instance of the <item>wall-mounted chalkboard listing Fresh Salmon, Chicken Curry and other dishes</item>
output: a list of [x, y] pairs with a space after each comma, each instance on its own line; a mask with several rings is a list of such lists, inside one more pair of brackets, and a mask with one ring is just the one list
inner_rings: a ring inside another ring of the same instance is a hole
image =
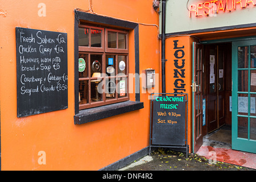
[[17, 117], [68, 108], [67, 34], [16, 27]]

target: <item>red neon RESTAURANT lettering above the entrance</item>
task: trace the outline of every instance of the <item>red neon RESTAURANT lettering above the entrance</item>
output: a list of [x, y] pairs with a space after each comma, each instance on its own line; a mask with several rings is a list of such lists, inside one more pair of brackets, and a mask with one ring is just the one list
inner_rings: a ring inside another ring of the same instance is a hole
[[250, 5], [256, 6], [256, 0], [214, 0], [201, 2], [197, 5], [189, 6], [189, 17], [210, 16], [219, 13], [219, 11], [225, 13], [227, 11], [245, 9]]

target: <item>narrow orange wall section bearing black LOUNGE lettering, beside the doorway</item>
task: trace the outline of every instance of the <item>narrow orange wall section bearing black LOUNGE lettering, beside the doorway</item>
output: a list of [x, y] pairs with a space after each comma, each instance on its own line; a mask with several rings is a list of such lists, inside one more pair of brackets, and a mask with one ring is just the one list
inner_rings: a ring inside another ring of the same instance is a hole
[[[177, 42], [176, 42], [177, 41]], [[174, 36], [166, 39], [166, 93], [174, 93], [174, 89], [178, 93], [188, 93], [188, 144], [189, 152], [192, 152], [192, 38], [190, 36]], [[175, 46], [175, 42], [177, 43]], [[177, 55], [175, 56], [175, 52]], [[183, 55], [184, 53], [184, 55]], [[178, 60], [178, 67], [175, 67], [175, 61]], [[184, 67], [182, 60], [184, 60]], [[181, 69], [185, 69], [184, 75], [179, 73], [175, 76], [174, 69], [182, 73]], [[175, 81], [177, 85], [175, 86]], [[181, 85], [185, 84], [185, 85]], [[184, 87], [184, 88], [183, 88]], [[185, 89], [185, 90], [181, 90]]]

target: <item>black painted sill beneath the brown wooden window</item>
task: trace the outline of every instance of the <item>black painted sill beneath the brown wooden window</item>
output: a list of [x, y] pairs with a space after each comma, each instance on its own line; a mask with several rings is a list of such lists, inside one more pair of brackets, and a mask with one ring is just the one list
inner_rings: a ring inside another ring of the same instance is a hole
[[100, 107], [93, 107], [90, 109], [80, 110], [79, 114], [74, 116], [75, 125], [96, 121], [112, 117], [114, 115], [127, 113], [134, 110], [144, 108], [143, 102], [125, 101], [117, 104], [110, 104]]

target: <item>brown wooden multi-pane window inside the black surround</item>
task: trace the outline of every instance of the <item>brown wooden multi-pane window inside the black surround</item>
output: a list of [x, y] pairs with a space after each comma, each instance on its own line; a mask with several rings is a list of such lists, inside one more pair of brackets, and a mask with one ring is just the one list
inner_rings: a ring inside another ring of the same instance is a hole
[[128, 32], [79, 27], [79, 109], [129, 100]]

